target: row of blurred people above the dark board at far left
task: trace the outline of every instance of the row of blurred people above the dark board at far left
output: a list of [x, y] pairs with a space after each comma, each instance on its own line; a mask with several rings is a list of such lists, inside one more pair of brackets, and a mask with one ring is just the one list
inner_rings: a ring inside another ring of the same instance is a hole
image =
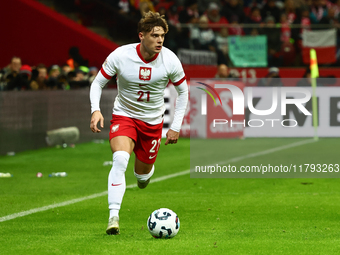
[[13, 56], [0, 72], [0, 90], [69, 90], [89, 87], [98, 73], [97, 67], [88, 67], [77, 47], [69, 50], [70, 58], [62, 66], [23, 64]]

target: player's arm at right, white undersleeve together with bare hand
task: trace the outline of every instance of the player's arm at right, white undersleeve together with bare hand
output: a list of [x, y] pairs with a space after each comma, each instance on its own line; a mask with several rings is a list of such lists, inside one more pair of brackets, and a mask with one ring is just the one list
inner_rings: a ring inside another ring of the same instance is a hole
[[188, 104], [188, 85], [184, 80], [180, 85], [175, 86], [178, 93], [176, 99], [175, 115], [169, 131], [166, 133], [165, 145], [177, 143], [179, 131], [181, 130], [185, 110]]

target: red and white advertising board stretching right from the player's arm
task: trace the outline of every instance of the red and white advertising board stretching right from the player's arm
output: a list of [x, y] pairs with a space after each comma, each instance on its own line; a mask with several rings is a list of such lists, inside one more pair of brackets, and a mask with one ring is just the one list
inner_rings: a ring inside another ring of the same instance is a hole
[[[285, 82], [289, 83], [289, 80]], [[244, 87], [242, 82], [214, 79], [191, 79], [190, 84], [190, 105], [183, 122], [182, 136], [233, 138], [315, 135], [310, 87]], [[239, 90], [239, 96], [230, 88]], [[318, 87], [316, 97], [317, 135], [339, 137], [340, 88]], [[239, 109], [236, 114], [235, 107]]]

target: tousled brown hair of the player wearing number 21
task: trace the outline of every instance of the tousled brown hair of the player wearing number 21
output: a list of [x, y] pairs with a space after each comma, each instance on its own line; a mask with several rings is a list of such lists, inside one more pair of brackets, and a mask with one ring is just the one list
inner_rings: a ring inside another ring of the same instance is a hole
[[149, 11], [143, 15], [138, 23], [139, 32], [150, 32], [154, 27], [162, 27], [164, 32], [169, 30], [168, 23], [166, 22], [164, 15], [160, 15], [158, 12]]

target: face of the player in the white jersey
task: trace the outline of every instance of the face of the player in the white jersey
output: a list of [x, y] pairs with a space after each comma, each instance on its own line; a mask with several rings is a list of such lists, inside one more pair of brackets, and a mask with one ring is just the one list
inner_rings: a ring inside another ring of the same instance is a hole
[[154, 56], [162, 50], [164, 36], [164, 29], [160, 26], [154, 27], [148, 33], [139, 34], [141, 44], [150, 56]]

